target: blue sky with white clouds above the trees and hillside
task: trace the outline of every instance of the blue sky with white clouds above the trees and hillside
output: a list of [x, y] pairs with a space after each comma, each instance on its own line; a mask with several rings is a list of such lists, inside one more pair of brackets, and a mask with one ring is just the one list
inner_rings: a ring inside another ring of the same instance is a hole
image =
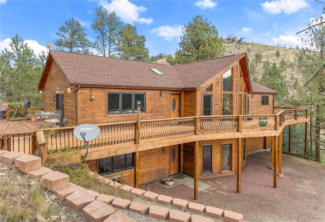
[[[246, 42], [296, 47], [303, 46], [296, 35], [312, 18], [322, 15], [323, 4], [306, 0], [211, 1], [211, 0], [83, 0], [10, 1], [0, 0], [0, 50], [8, 48], [18, 34], [36, 54], [46, 51], [46, 43], [58, 39], [55, 33], [74, 17], [93, 40], [93, 12], [103, 6], [124, 22], [135, 25], [146, 37], [149, 54], [173, 54], [179, 49], [182, 26], [197, 15], [207, 18], [219, 37], [244, 37]], [[52, 49], [55, 49], [55, 45]]]

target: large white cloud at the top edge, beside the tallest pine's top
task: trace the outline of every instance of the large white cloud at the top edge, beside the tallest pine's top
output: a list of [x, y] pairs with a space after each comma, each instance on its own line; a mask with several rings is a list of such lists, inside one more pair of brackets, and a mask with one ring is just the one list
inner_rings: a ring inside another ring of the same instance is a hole
[[111, 3], [107, 1], [101, 1], [99, 3], [109, 13], [115, 12], [116, 15], [124, 22], [134, 23], [145, 23], [150, 24], [153, 22], [152, 18], [140, 17], [142, 12], [146, 12], [147, 9], [144, 6], [136, 6], [127, 0], [112, 0]]

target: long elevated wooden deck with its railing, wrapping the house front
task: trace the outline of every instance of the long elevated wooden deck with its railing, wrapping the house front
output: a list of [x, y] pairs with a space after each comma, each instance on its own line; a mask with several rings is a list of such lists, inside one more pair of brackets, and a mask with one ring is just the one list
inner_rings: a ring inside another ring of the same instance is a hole
[[[98, 125], [101, 130], [100, 136], [89, 142], [89, 148], [111, 150], [118, 148], [120, 152], [125, 148], [127, 151], [146, 150], [150, 147], [213, 138], [274, 136], [278, 135], [285, 125], [307, 122], [307, 112], [307, 109], [290, 109], [272, 115], [195, 116], [139, 120], [138, 123], [131, 121], [100, 124]], [[263, 125], [261, 121], [266, 121], [267, 124]], [[51, 128], [38, 130], [39, 125], [40, 121], [0, 120], [1, 148], [34, 154], [42, 143], [46, 144], [48, 151], [61, 148], [84, 149], [86, 146], [84, 141], [74, 137], [75, 127], [55, 128], [53, 131]], [[39, 137], [40, 134], [43, 136]], [[173, 141], [175, 136], [178, 140]], [[152, 142], [150, 146], [149, 142]], [[119, 147], [121, 144], [123, 149]]]

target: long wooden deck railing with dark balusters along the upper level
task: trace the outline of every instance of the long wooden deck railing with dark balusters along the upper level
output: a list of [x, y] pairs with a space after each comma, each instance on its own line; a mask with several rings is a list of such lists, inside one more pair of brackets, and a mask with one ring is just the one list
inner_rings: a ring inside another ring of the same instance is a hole
[[[170, 119], [141, 120], [137, 128], [137, 121], [99, 124], [101, 133], [95, 140], [89, 141], [89, 148], [108, 146], [119, 143], [166, 138], [177, 135], [197, 135], [199, 133], [243, 132], [259, 130], [278, 130], [285, 121], [308, 118], [308, 109], [278, 108], [273, 115], [238, 115], [238, 116], [196, 116]], [[293, 122], [294, 123], [294, 122]], [[61, 148], [85, 148], [84, 141], [73, 135], [74, 127], [43, 129], [47, 150]], [[139, 132], [137, 130], [139, 129]], [[10, 151], [33, 154], [37, 147], [36, 133], [11, 133], [3, 137], [3, 148]], [[137, 143], [138, 142], [138, 143]]]

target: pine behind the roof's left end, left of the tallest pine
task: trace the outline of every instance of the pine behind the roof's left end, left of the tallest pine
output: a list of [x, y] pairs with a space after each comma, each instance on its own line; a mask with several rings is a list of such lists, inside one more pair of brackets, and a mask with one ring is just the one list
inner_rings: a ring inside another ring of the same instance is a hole
[[91, 54], [89, 51], [90, 41], [86, 39], [85, 28], [74, 17], [65, 22], [65, 26], [58, 28], [55, 33], [58, 40], [54, 41], [58, 50]]

